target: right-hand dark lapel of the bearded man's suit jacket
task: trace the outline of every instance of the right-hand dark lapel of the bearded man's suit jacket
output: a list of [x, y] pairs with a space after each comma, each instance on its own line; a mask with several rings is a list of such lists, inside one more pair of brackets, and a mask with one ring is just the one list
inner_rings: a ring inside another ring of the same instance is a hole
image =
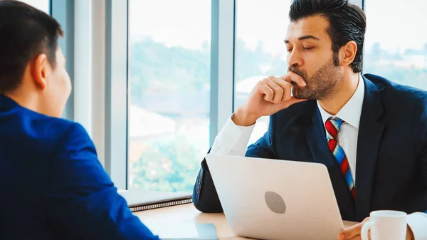
[[374, 83], [363, 77], [365, 93], [360, 117], [356, 161], [357, 220], [362, 221], [371, 212], [372, 183], [378, 159], [384, 124], [379, 122], [383, 113], [381, 96]]

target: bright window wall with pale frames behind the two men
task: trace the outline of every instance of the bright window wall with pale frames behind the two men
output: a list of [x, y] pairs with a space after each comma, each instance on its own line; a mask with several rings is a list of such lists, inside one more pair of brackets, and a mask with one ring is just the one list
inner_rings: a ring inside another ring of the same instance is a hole
[[[219, 130], [287, 72], [290, 0], [25, 0], [56, 18], [80, 122], [120, 189], [191, 192]], [[357, 0], [363, 73], [427, 90], [427, 1]], [[264, 134], [261, 118], [249, 144]]]

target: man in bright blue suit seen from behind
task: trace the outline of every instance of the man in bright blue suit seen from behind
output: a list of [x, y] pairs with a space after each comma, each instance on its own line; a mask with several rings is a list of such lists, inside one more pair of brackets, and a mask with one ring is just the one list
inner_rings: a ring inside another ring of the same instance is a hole
[[55, 19], [0, 1], [0, 239], [158, 239], [127, 207], [81, 125]]

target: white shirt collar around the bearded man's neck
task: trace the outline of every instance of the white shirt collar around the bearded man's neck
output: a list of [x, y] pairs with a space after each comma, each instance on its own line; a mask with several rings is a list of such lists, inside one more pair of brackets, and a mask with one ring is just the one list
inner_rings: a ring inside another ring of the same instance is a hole
[[357, 85], [356, 91], [352, 95], [352, 98], [350, 98], [347, 103], [341, 108], [341, 110], [339, 110], [337, 115], [334, 116], [330, 113], [327, 113], [327, 111], [320, 107], [319, 101], [317, 101], [317, 108], [319, 108], [320, 110], [323, 123], [325, 123], [326, 120], [330, 117], [337, 117], [349, 123], [349, 125], [352, 125], [353, 127], [359, 129], [360, 115], [362, 115], [363, 98], [364, 80], [362, 78], [362, 75], [359, 74], [359, 84]]

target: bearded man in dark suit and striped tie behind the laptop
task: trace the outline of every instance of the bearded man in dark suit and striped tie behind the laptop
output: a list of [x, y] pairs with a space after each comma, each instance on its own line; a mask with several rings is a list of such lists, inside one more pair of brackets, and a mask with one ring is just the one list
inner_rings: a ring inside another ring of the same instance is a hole
[[[427, 239], [427, 93], [361, 75], [366, 17], [347, 0], [294, 0], [285, 37], [289, 71], [255, 85], [211, 153], [326, 165], [342, 219], [408, 214], [407, 239]], [[256, 120], [265, 135], [246, 149]], [[310, 176], [307, 176], [310, 177]], [[209, 166], [194, 185], [201, 212], [222, 212]], [[360, 239], [362, 224], [339, 239]]]

